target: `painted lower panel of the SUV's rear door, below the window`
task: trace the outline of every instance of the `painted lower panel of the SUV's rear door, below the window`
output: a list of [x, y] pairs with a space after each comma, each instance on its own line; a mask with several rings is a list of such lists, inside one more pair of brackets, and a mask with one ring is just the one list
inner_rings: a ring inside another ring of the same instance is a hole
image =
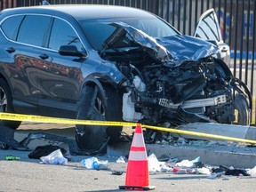
[[[5, 49], [13, 49], [13, 52], [3, 50], [1, 66], [10, 82], [14, 111], [18, 113], [26, 111], [27, 113], [33, 112], [33, 114], [37, 114], [37, 83], [35, 67], [37, 63], [40, 62], [37, 58], [40, 50], [25, 44], [16, 44], [12, 42], [5, 44], [5, 47]], [[20, 102], [16, 102], [16, 100], [19, 100]], [[24, 106], [22, 103], [24, 103]], [[29, 103], [30, 105], [25, 105], [25, 103]], [[30, 107], [33, 108], [33, 110], [24, 110], [24, 108]]]

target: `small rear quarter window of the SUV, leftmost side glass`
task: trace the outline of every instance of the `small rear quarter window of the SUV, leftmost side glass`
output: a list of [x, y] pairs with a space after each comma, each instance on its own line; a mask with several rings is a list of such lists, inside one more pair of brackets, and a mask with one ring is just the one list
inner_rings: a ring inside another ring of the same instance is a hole
[[16, 40], [18, 29], [20, 28], [20, 22], [24, 16], [12, 16], [1, 24], [1, 28], [4, 31], [4, 35], [12, 40]]

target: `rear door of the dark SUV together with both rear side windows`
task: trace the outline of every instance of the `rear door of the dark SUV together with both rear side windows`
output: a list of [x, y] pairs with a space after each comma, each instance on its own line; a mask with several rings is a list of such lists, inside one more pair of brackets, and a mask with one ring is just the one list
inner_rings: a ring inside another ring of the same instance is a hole
[[[17, 20], [19, 20], [20, 24]], [[51, 18], [42, 15], [13, 15], [6, 26], [13, 32], [5, 44], [6, 73], [12, 87], [13, 108], [17, 113], [38, 114], [36, 68], [43, 52], [44, 33]], [[40, 23], [40, 25], [38, 25]], [[19, 31], [19, 33], [18, 33]]]

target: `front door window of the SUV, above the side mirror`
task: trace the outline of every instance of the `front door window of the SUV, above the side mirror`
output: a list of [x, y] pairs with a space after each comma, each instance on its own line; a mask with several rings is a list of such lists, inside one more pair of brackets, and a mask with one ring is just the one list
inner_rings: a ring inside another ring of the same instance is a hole
[[76, 45], [79, 52], [84, 51], [76, 32], [71, 26], [64, 20], [55, 19], [52, 26], [52, 32], [49, 41], [49, 48], [52, 50], [58, 50], [60, 45]]

